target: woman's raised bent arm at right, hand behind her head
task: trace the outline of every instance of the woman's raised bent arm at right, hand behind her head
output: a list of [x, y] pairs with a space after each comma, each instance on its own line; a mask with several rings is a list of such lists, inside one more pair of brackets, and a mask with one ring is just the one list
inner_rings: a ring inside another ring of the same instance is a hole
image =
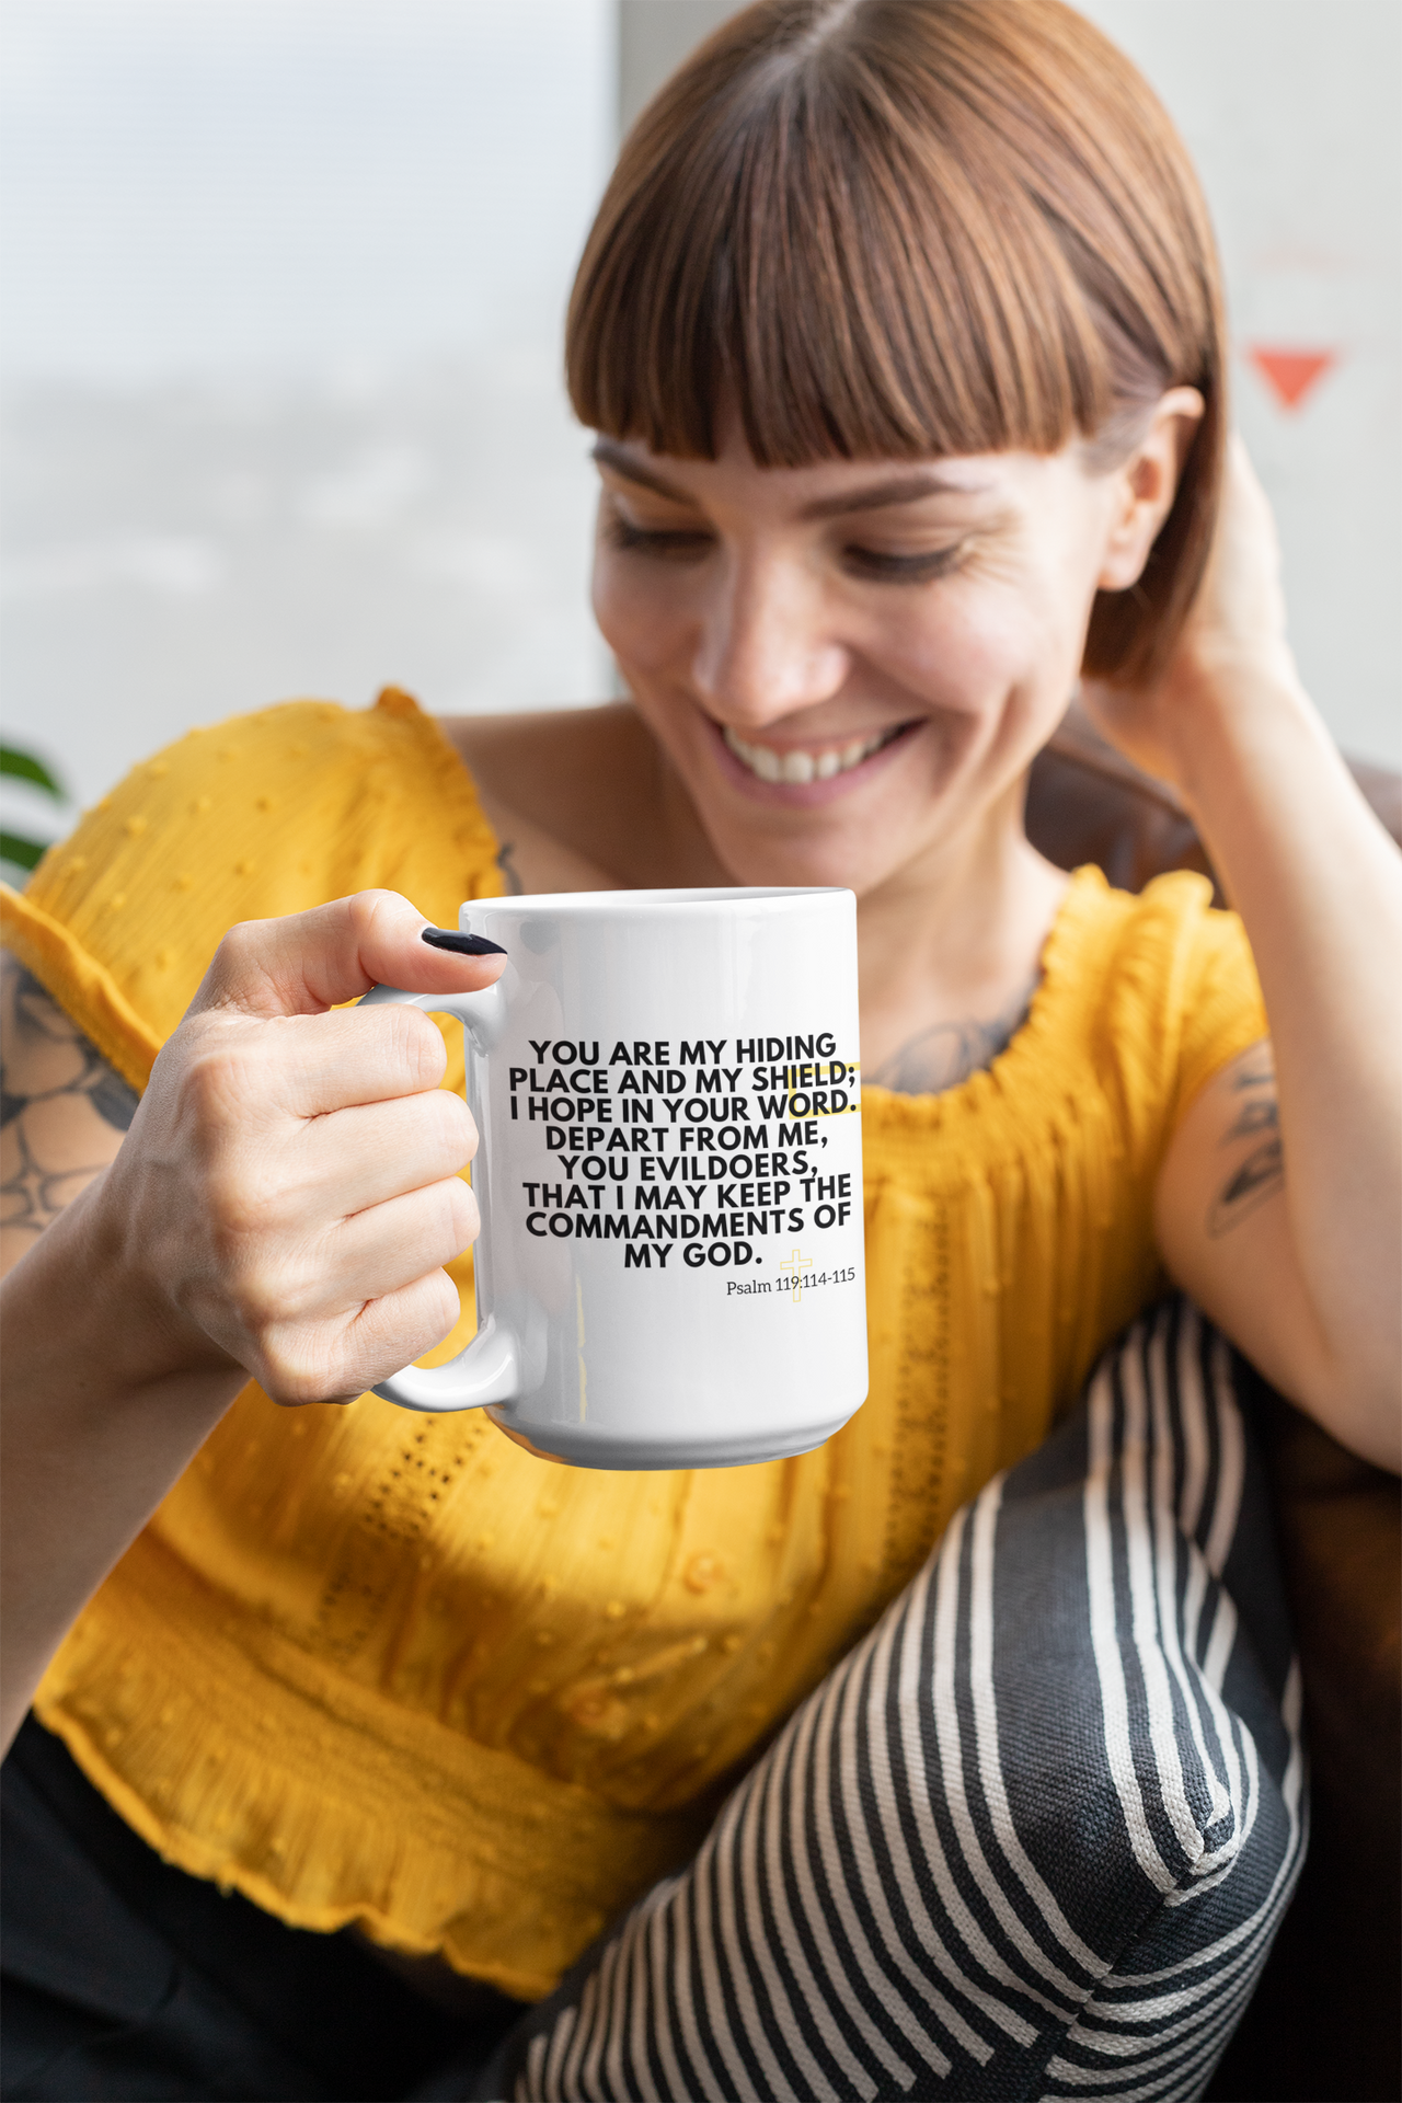
[[1402, 856], [1299, 683], [1274, 524], [1240, 446], [1173, 665], [1152, 694], [1087, 698], [1183, 795], [1272, 1024], [1173, 1138], [1162, 1255], [1284, 1394], [1398, 1468]]

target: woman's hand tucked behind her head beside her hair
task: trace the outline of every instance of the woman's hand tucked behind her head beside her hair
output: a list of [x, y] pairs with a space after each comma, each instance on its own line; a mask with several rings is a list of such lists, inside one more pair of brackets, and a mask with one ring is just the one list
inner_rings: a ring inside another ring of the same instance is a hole
[[1261, 692], [1299, 694], [1299, 673], [1286, 641], [1276, 519], [1234, 437], [1207, 572], [1173, 658], [1152, 688], [1085, 679], [1080, 698], [1101, 736], [1192, 803], [1202, 715], [1253, 705]]

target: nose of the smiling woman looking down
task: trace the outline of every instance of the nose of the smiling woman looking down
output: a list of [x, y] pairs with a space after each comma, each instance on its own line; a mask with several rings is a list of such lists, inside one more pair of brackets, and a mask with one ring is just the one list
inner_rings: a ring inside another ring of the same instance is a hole
[[696, 694], [719, 723], [763, 730], [841, 692], [849, 652], [818, 578], [799, 564], [731, 557], [702, 610]]

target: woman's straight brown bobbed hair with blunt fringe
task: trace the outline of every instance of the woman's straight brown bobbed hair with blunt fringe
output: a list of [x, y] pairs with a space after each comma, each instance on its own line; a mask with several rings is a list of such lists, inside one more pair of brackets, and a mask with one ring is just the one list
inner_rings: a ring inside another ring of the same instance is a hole
[[643, 109], [565, 343], [591, 429], [761, 467], [1028, 448], [1106, 458], [1167, 387], [1207, 416], [1087, 673], [1137, 679], [1202, 576], [1223, 423], [1221, 292], [1188, 151], [1059, 0], [759, 0]]

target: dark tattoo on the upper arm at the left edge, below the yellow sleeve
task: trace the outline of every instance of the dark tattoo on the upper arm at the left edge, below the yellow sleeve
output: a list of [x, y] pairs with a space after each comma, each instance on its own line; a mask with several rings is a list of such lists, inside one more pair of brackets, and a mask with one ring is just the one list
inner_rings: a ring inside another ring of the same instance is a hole
[[0, 957], [0, 1232], [8, 1260], [107, 1167], [135, 1115], [135, 1089], [38, 978]]

